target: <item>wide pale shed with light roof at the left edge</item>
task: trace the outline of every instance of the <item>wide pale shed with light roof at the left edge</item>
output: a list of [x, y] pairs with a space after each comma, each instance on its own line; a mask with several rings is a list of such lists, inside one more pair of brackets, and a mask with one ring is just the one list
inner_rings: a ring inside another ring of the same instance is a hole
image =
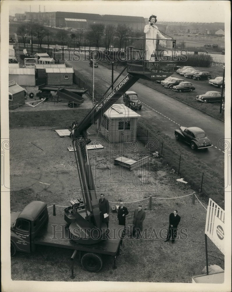
[[9, 68], [9, 81], [15, 80], [19, 85], [36, 85], [35, 69], [33, 68]]

